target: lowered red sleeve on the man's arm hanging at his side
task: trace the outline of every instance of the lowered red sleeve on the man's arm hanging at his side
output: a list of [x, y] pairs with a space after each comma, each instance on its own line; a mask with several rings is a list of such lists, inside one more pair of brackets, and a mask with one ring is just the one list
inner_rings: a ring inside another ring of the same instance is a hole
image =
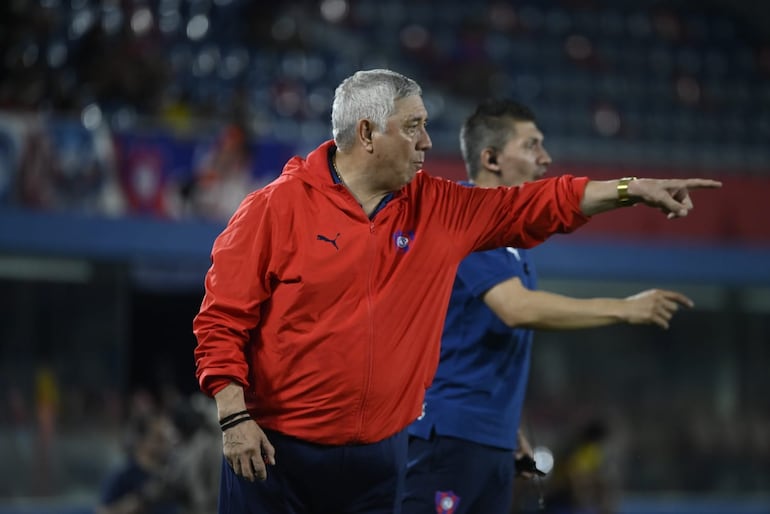
[[246, 344], [270, 297], [272, 224], [264, 195], [252, 193], [214, 241], [205, 295], [193, 320], [196, 377], [213, 396], [230, 382], [248, 387]]

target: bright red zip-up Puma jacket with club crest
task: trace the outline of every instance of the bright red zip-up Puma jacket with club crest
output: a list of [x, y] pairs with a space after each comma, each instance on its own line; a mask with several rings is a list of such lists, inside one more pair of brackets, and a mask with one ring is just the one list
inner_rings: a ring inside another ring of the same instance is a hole
[[197, 377], [210, 395], [243, 385], [260, 426], [371, 443], [420, 414], [460, 261], [579, 227], [588, 179], [485, 189], [418, 172], [370, 220], [333, 182], [332, 145], [291, 159], [214, 242]]

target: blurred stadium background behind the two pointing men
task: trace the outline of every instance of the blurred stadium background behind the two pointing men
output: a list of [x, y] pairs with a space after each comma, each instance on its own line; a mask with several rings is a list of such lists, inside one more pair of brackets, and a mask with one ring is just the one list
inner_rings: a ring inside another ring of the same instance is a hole
[[687, 219], [628, 209], [536, 250], [545, 288], [696, 308], [538, 334], [527, 425], [558, 448], [607, 423], [618, 512], [770, 512], [768, 26], [742, 1], [4, 2], [0, 513], [89, 512], [136, 397], [196, 390], [214, 237], [373, 67], [422, 84], [434, 175], [463, 177], [463, 118], [511, 96], [551, 173], [724, 181]]

